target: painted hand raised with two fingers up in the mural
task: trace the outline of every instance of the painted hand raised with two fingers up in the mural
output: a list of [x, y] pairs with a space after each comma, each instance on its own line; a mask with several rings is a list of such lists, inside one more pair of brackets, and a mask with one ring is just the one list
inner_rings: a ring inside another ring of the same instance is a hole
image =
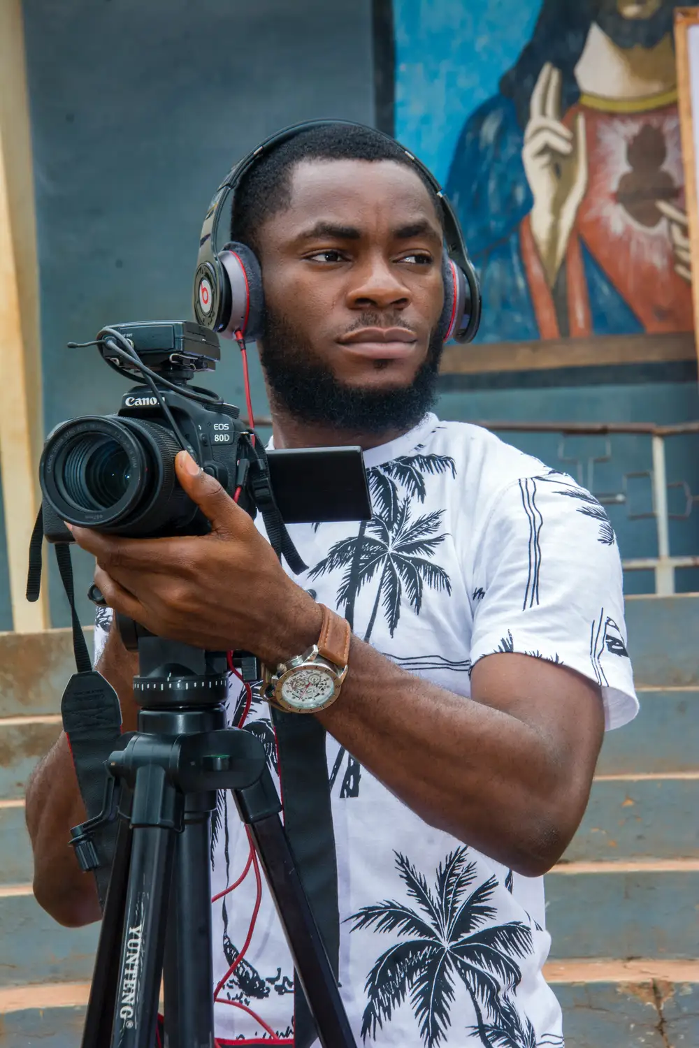
[[562, 123], [561, 70], [547, 62], [531, 92], [522, 162], [533, 206], [531, 235], [553, 286], [566, 254], [577, 209], [588, 184], [585, 116], [571, 131]]

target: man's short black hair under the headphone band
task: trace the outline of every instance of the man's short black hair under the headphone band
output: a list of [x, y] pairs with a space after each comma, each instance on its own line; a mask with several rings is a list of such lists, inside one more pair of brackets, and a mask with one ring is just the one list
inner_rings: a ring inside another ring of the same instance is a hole
[[363, 125], [328, 124], [301, 131], [253, 165], [236, 190], [231, 215], [231, 239], [258, 250], [257, 233], [272, 215], [291, 202], [291, 173], [302, 160], [393, 160], [420, 178], [434, 202], [439, 221], [443, 213], [434, 187], [395, 139]]

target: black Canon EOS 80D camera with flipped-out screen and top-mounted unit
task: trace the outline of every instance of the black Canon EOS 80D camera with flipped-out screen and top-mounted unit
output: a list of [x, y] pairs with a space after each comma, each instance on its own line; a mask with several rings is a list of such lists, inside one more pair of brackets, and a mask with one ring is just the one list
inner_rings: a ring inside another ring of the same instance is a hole
[[[75, 344], [71, 344], [74, 346]], [[255, 517], [299, 570], [285, 524], [371, 516], [358, 447], [266, 453], [240, 411], [191, 385], [220, 361], [218, 336], [190, 321], [118, 324], [93, 343], [122, 376], [140, 379], [115, 415], [85, 415], [49, 434], [40, 462], [43, 531], [72, 537], [64, 521], [129, 537], [202, 534], [209, 522], [180, 487], [175, 456], [189, 451]]]

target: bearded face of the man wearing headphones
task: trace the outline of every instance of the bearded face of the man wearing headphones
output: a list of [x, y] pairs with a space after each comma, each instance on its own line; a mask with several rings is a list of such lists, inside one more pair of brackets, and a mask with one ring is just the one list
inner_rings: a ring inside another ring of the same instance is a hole
[[428, 190], [389, 160], [304, 160], [290, 190], [258, 232], [272, 394], [308, 421], [412, 424], [441, 349], [442, 231]]

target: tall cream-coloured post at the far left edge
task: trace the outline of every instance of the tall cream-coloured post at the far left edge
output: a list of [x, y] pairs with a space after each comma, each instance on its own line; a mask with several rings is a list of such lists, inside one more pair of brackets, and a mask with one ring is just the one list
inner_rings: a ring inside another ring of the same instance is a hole
[[27, 604], [27, 548], [43, 440], [34, 169], [21, 0], [0, 0], [0, 473], [15, 630], [46, 629]]

